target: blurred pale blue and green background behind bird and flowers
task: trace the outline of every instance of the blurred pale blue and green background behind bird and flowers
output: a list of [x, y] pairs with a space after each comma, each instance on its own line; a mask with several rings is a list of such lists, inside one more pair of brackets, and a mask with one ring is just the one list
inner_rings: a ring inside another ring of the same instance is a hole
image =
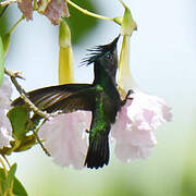
[[[74, 2], [110, 17], [123, 14], [117, 0]], [[124, 0], [138, 30], [131, 39], [131, 70], [140, 88], [172, 107], [173, 121], [157, 130], [157, 146], [147, 160], [123, 163], [111, 146], [110, 164], [100, 170], [60, 168], [39, 146], [9, 157], [29, 196], [194, 196], [196, 195], [196, 1]], [[16, 4], [0, 19], [3, 35], [19, 20]], [[93, 81], [90, 66], [79, 66], [86, 49], [108, 44], [120, 26], [71, 9], [75, 78]], [[26, 90], [58, 84], [58, 27], [37, 13], [23, 21], [11, 39], [5, 64], [23, 71]], [[17, 95], [13, 94], [13, 98]]]

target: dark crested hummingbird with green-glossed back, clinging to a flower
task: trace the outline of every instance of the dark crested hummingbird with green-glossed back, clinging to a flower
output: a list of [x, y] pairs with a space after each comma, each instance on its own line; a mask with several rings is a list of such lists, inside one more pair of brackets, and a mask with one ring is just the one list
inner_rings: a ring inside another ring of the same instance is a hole
[[[91, 53], [84, 59], [83, 63], [94, 64], [93, 84], [49, 86], [27, 93], [32, 102], [47, 112], [91, 111], [91, 123], [88, 131], [89, 146], [84, 162], [84, 166], [90, 169], [108, 166], [111, 124], [115, 122], [118, 111], [125, 103], [125, 100], [121, 100], [115, 82], [119, 37], [108, 45], [88, 50]], [[24, 105], [22, 98], [12, 102], [12, 106], [20, 105]]]

